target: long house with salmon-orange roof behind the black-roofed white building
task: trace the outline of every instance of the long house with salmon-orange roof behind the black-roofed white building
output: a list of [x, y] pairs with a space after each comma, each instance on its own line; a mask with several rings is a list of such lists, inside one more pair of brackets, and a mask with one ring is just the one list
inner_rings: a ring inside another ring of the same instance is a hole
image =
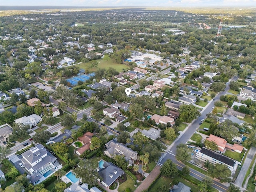
[[210, 134], [208, 138], [206, 138], [208, 141], [213, 141], [218, 145], [218, 152], [225, 153], [226, 150], [242, 153], [244, 147], [238, 144], [229, 144], [225, 139], [220, 138], [218, 136]]

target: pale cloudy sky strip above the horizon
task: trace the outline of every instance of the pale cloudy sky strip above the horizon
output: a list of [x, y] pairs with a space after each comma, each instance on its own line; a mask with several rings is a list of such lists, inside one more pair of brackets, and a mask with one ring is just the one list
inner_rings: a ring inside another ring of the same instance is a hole
[[0, 0], [0, 6], [256, 7], [256, 0]]

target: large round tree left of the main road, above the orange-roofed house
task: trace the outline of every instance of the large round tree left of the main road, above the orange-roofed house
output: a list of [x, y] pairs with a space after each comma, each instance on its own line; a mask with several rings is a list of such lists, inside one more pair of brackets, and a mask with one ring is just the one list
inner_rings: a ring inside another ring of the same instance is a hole
[[185, 104], [180, 106], [180, 120], [185, 122], [191, 122], [198, 116], [200, 116], [200, 112], [195, 106]]

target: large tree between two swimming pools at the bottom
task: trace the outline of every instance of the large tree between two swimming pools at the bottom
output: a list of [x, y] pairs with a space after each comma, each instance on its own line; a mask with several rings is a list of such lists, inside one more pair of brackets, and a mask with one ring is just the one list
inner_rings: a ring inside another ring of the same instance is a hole
[[80, 160], [78, 166], [73, 169], [76, 177], [82, 178], [82, 182], [86, 182], [90, 186], [94, 186], [99, 178], [97, 172], [98, 164], [92, 159]]

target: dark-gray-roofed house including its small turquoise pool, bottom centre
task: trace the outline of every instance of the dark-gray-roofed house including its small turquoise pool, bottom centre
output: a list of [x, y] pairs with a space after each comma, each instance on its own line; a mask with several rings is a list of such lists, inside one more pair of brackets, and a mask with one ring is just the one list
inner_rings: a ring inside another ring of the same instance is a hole
[[106, 162], [104, 160], [99, 161], [99, 167], [97, 168], [98, 174], [102, 180], [98, 181], [109, 188], [114, 182], [118, 180], [123, 174], [124, 170], [113, 164], [112, 162]]

